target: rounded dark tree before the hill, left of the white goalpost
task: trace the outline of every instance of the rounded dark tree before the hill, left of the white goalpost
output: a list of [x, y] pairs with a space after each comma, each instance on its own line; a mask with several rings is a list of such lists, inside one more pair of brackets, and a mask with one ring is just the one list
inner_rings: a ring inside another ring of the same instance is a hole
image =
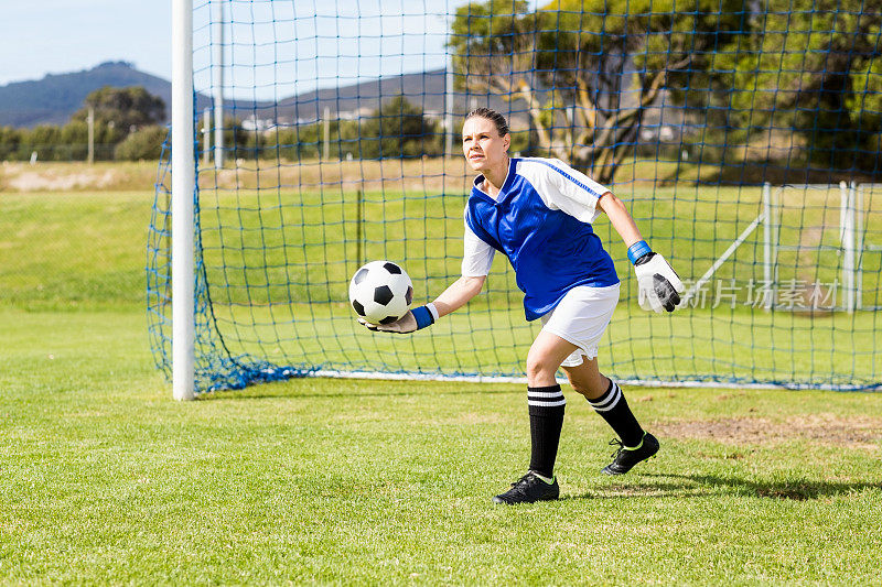
[[95, 110], [96, 124], [117, 128], [123, 134], [165, 120], [165, 102], [141, 86], [96, 89], [86, 96], [83, 108], [74, 113], [72, 120], [86, 120], [89, 108]]

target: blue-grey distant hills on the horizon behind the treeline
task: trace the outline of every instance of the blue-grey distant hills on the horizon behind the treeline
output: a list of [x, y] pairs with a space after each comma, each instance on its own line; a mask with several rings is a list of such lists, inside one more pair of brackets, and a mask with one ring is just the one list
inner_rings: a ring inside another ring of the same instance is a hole
[[[363, 81], [340, 88], [325, 88], [288, 96], [275, 101], [230, 100], [227, 112], [240, 120], [259, 120], [263, 123], [291, 123], [314, 121], [322, 118], [327, 108], [333, 117], [355, 118], [376, 110], [380, 99], [404, 95], [420, 105], [427, 113], [444, 110], [443, 69], [404, 74]], [[143, 86], [150, 94], [165, 101], [166, 119], [170, 118], [171, 83], [136, 69], [127, 62], [107, 62], [92, 69], [69, 74], [50, 74], [43, 79], [15, 81], [0, 86], [0, 127], [35, 127], [37, 124], [64, 124], [82, 106], [86, 96], [104, 86]], [[454, 97], [454, 111], [487, 106], [507, 112], [508, 105], [498, 98], [470, 96], [467, 104], [463, 95]], [[196, 108], [211, 105], [206, 96], [200, 96]]]

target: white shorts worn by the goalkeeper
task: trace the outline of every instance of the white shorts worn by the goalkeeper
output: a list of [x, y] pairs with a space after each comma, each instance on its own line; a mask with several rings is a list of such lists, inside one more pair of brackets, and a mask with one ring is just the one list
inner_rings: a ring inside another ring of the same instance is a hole
[[563, 359], [562, 367], [578, 367], [582, 357], [591, 360], [598, 356], [598, 344], [619, 303], [619, 285], [573, 287], [555, 309], [542, 316], [544, 331], [579, 347]]

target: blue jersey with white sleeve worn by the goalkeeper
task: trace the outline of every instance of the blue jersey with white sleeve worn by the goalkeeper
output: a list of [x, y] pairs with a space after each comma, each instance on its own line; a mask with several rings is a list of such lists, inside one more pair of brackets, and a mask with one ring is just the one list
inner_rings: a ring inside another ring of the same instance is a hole
[[524, 292], [524, 312], [534, 320], [550, 312], [578, 285], [619, 283], [610, 254], [591, 228], [596, 202], [609, 189], [560, 160], [512, 159], [494, 199], [478, 175], [465, 224], [482, 241], [505, 253]]

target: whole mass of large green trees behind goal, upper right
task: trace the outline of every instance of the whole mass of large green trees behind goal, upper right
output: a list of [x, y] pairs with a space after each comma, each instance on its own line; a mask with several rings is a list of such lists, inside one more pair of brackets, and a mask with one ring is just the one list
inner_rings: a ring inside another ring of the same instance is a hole
[[[521, 100], [541, 149], [601, 182], [663, 95], [704, 161], [743, 165], [762, 140], [788, 167], [880, 173], [880, 30], [865, 0], [486, 0], [458, 11], [450, 44], [462, 86]], [[805, 149], [773, 151], [773, 133]]]

